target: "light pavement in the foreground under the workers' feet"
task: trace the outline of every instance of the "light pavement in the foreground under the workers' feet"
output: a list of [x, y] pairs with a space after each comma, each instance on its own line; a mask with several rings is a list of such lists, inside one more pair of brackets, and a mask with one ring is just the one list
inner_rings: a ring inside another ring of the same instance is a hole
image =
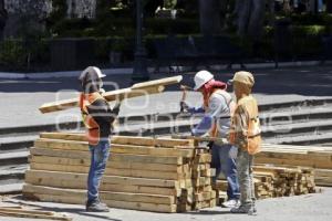
[[[134, 210], [111, 209], [108, 213], [87, 213], [83, 206], [60, 204], [51, 202], [24, 201], [20, 198], [8, 199], [1, 204], [37, 206], [41, 210], [65, 212], [74, 221], [330, 221], [332, 218], [332, 188], [324, 188], [322, 193], [298, 197], [274, 198], [257, 201], [258, 214], [230, 214], [229, 209], [219, 207], [187, 213], [153, 213]], [[0, 221], [17, 221], [32, 219], [1, 218]]]

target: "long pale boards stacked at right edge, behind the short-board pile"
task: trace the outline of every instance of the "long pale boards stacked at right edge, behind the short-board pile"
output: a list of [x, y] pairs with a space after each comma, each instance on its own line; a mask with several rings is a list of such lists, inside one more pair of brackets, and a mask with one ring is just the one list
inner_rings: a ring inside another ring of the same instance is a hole
[[317, 186], [332, 187], [332, 148], [314, 146], [263, 145], [256, 164], [312, 167]]

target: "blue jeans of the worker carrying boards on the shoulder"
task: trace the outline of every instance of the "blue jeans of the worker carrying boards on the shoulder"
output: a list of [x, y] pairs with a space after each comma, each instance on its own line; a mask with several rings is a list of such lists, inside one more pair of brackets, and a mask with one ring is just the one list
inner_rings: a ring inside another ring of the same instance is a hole
[[108, 140], [101, 139], [97, 145], [90, 145], [89, 148], [91, 165], [87, 176], [87, 201], [93, 202], [98, 200], [98, 188], [108, 160], [111, 145]]

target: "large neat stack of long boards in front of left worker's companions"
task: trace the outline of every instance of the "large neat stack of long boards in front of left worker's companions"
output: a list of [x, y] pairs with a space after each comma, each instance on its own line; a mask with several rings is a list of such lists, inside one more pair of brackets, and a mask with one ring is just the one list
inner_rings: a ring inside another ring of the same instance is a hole
[[[41, 134], [31, 148], [23, 196], [84, 204], [90, 157], [83, 134]], [[113, 208], [155, 212], [214, 207], [210, 160], [193, 140], [114, 136], [101, 199]]]

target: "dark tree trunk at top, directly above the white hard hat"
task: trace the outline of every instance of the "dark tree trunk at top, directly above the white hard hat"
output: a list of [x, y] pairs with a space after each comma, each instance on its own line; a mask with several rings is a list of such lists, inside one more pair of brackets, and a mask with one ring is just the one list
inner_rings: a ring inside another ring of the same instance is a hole
[[203, 34], [221, 32], [220, 1], [224, 0], [199, 0], [199, 24]]

